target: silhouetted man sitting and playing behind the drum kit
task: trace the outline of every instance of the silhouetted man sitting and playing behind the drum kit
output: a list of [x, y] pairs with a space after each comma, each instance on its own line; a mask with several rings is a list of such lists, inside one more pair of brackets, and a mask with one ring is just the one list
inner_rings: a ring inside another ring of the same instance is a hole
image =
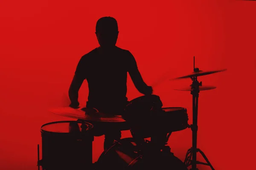
[[[128, 104], [127, 73], [140, 93], [152, 94], [152, 88], [143, 81], [134, 56], [116, 46], [118, 34], [117, 21], [113, 17], [102, 17], [97, 21], [96, 37], [100, 46], [82, 56], [77, 65], [69, 89], [70, 107], [79, 107], [78, 92], [84, 79], [89, 88], [86, 107], [103, 113], [120, 115]], [[121, 138], [118, 129], [104, 133], [104, 149]]]

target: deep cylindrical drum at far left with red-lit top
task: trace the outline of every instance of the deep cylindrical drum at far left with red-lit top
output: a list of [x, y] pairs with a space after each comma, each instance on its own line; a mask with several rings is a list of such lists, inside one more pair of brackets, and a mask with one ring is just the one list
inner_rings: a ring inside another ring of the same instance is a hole
[[41, 127], [43, 170], [84, 170], [92, 166], [91, 131], [87, 122], [60, 121]]

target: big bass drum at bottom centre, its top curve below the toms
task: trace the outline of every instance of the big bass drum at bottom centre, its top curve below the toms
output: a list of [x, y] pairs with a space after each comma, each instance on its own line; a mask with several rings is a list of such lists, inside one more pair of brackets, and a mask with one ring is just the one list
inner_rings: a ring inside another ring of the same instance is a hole
[[[145, 142], [144, 146], [149, 143]], [[169, 170], [188, 170], [173, 153], [153, 154], [150, 147], [142, 147], [135, 142], [134, 138], [125, 138], [120, 142], [115, 142], [112, 147], [101, 154], [95, 170], [143, 170], [147, 168], [166, 169], [166, 167]]]

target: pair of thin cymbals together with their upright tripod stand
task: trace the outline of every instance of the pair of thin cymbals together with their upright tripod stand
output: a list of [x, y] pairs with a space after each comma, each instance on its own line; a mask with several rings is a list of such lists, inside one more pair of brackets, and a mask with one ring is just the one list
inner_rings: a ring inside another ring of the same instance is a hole
[[[187, 76], [183, 76], [183, 77], [178, 77], [177, 79], [183, 79], [183, 78], [191, 78], [192, 79], [192, 85], [190, 89], [186, 89], [186, 91], [191, 91], [192, 94], [192, 103], [193, 103], [193, 123], [192, 125], [188, 126], [191, 130], [192, 130], [192, 147], [187, 151], [186, 153], [186, 158], [184, 163], [186, 164], [187, 167], [189, 167], [190, 165], [192, 165], [192, 169], [191, 170], [198, 170], [198, 168], [196, 167], [197, 164], [204, 164], [207, 165], [209, 167], [211, 167], [212, 170], [214, 170], [214, 168], [212, 167], [212, 164], [209, 162], [209, 160], [207, 159], [207, 157], [205, 156], [205, 154], [197, 148], [197, 131], [198, 131], [198, 96], [199, 96], [199, 92], [200, 90], [211, 90], [214, 88], [210, 88], [210, 87], [205, 87], [202, 88], [202, 82], [198, 82], [198, 76], [204, 76], [207, 74], [213, 74], [213, 73], [217, 73], [220, 71], [226, 71], [227, 69], [224, 70], [219, 70], [219, 71], [200, 71], [199, 68], [195, 68], [195, 57], [194, 57], [194, 72], [193, 74], [189, 74]], [[201, 155], [203, 156], [203, 158], [205, 159], [205, 161], [207, 163], [204, 162], [200, 162], [197, 161], [197, 153], [201, 153]]]

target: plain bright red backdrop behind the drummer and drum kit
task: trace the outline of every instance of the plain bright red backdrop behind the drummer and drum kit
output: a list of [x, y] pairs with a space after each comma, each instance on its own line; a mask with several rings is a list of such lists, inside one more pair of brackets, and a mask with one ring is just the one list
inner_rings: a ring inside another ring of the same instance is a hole
[[[164, 107], [185, 107], [192, 123], [192, 96], [173, 88], [188, 86], [183, 76], [227, 68], [200, 77], [198, 148], [216, 170], [252, 167], [255, 147], [256, 2], [253, 1], [10, 1], [0, 2], [0, 169], [36, 170], [37, 144], [44, 123], [73, 120], [49, 113], [69, 104], [67, 91], [80, 57], [98, 46], [96, 21], [115, 17], [117, 45], [134, 54], [148, 85]], [[166, 77], [166, 79], [162, 79]], [[160, 81], [160, 79], [162, 79]], [[87, 82], [79, 101], [87, 101]], [[128, 99], [141, 94], [128, 77]], [[175, 132], [172, 152], [184, 160], [191, 130]], [[130, 136], [129, 131], [122, 137]], [[93, 142], [93, 161], [104, 136]], [[202, 160], [199, 157], [199, 160]], [[209, 167], [200, 166], [201, 170]], [[250, 168], [249, 168], [250, 169]]]

